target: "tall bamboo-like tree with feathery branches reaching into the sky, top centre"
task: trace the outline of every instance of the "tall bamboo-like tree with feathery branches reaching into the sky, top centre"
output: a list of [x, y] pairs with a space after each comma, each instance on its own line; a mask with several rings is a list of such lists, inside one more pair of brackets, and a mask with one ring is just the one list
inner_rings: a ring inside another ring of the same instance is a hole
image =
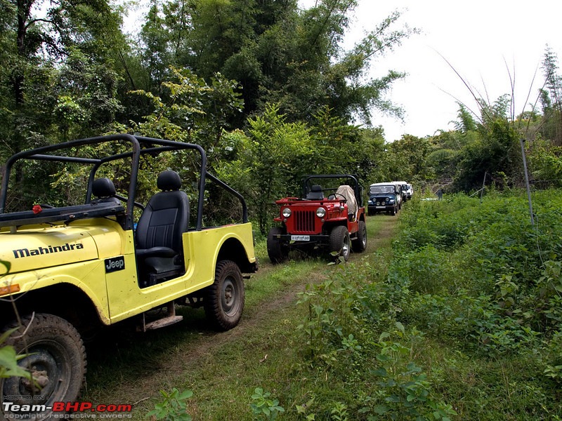
[[370, 79], [367, 69], [415, 31], [393, 29], [400, 18], [393, 13], [352, 51], [342, 51], [356, 4], [320, 0], [301, 11], [296, 0], [168, 1], [162, 19], [150, 18], [157, 22], [153, 45], [162, 51], [153, 67], [185, 66], [207, 81], [215, 72], [238, 81], [244, 100], [238, 127], [268, 103], [289, 121], [311, 121], [323, 107], [346, 122], [370, 123], [373, 107], [400, 115], [384, 93], [404, 74]]

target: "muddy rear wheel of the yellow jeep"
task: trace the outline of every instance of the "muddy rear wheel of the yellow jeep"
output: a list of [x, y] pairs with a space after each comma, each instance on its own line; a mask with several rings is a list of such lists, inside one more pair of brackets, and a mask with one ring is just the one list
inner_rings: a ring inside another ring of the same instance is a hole
[[218, 330], [235, 327], [244, 309], [244, 280], [240, 268], [232, 260], [216, 264], [215, 281], [207, 287], [203, 300], [207, 319]]

